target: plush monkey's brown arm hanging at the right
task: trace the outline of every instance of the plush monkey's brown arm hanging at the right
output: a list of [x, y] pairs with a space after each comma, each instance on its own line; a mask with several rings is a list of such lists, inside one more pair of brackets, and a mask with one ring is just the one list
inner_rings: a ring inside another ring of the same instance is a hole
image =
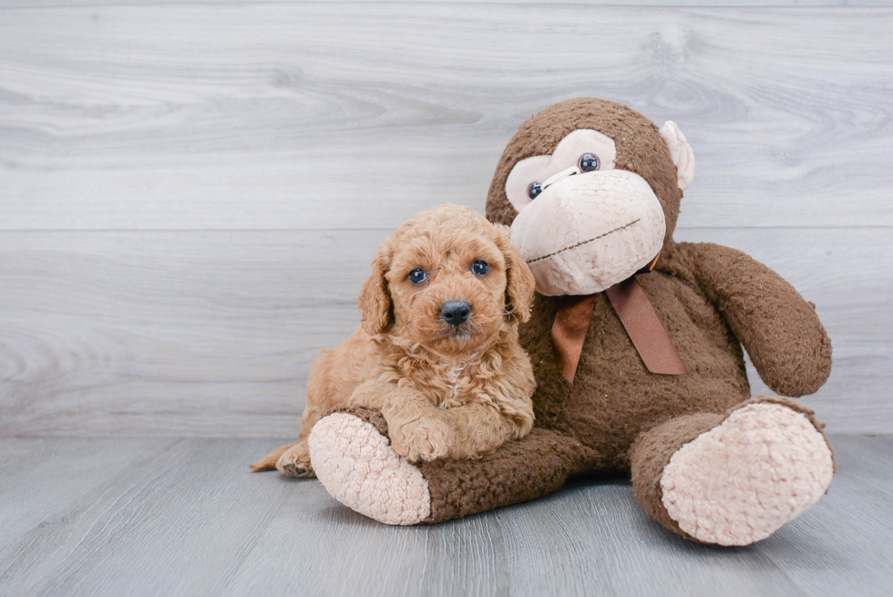
[[696, 282], [723, 314], [766, 385], [784, 396], [812, 394], [831, 373], [831, 341], [816, 307], [744, 252], [710, 242], [679, 245]]

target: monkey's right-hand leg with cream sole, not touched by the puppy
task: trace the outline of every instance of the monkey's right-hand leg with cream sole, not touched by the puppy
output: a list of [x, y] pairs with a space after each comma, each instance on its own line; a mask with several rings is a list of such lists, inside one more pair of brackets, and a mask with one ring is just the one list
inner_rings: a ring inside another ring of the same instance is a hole
[[808, 408], [768, 396], [674, 418], [633, 444], [632, 489], [686, 539], [749, 545], [825, 495], [834, 454], [822, 427]]

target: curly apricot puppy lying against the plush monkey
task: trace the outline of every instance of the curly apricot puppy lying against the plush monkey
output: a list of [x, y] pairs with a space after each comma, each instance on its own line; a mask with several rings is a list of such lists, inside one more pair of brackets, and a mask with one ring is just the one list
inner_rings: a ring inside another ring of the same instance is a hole
[[524, 437], [536, 382], [518, 323], [534, 285], [507, 226], [449, 203], [416, 214], [372, 262], [361, 326], [314, 363], [300, 440], [251, 468], [313, 477], [307, 437], [345, 406], [381, 411], [395, 452], [412, 462], [477, 458]]

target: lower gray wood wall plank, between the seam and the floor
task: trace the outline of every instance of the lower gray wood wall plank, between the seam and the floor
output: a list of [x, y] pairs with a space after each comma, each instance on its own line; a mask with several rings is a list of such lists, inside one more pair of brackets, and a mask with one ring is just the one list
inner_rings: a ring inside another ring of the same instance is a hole
[[[319, 348], [349, 335], [385, 231], [0, 234], [0, 435], [289, 437]], [[835, 432], [893, 428], [893, 253], [883, 229], [683, 230], [817, 304]], [[765, 386], [751, 370], [754, 391]]]

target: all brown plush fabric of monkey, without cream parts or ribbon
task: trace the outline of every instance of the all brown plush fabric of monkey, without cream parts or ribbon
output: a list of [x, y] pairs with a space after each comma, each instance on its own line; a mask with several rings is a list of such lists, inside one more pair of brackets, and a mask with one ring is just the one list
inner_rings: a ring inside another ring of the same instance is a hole
[[488, 219], [511, 224], [517, 212], [506, 198], [508, 172], [518, 160], [551, 153], [575, 129], [597, 129], [614, 139], [616, 168], [640, 175], [662, 203], [667, 222], [662, 256], [654, 272], [637, 280], [690, 373], [648, 372], [599, 293], [571, 385], [559, 372], [550, 337], [561, 297], [537, 294], [531, 319], [519, 330], [538, 382], [537, 428], [528, 439], [509, 442], [479, 461], [424, 465], [433, 520], [535, 498], [557, 489], [570, 472], [629, 471], [631, 447], [652, 431], [635, 448], [636, 493], [673, 529], [665, 510], [662, 514], [654, 505], [660, 497], [652, 484], [675, 449], [750, 397], [742, 344], [760, 376], [782, 394], [814, 392], [830, 372], [830, 341], [813, 305], [790, 284], [742, 252], [673, 242], [682, 199], [676, 170], [657, 127], [631, 108], [581, 98], [530, 118], [499, 160]]

